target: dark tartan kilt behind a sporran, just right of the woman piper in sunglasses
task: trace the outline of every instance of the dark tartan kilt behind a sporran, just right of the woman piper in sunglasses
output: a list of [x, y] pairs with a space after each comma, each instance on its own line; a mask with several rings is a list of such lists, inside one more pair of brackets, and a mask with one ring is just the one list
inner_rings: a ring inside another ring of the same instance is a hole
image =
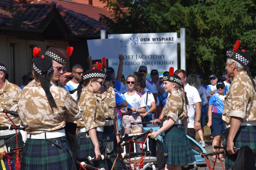
[[[103, 134], [109, 134], [109, 135], [114, 137], [114, 148], [113, 148], [113, 151], [108, 153], [108, 155], [110, 155], [110, 154], [115, 154], [115, 155], [119, 154], [117, 138], [116, 138], [116, 135], [113, 134], [113, 132], [114, 132], [114, 125], [112, 125], [112, 126], [104, 126]], [[107, 164], [108, 164], [108, 169], [109, 170], [112, 169], [113, 165], [114, 165], [113, 170], [120, 170], [120, 169], [122, 169], [120, 157], [117, 158], [117, 160], [116, 160], [116, 162], [114, 164], [115, 159], [116, 158], [107, 159]]]

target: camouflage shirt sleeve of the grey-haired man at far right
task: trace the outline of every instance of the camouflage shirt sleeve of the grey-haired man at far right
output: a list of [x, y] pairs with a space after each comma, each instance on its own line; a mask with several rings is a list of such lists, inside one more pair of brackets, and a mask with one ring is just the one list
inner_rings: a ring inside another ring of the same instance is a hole
[[246, 119], [246, 104], [247, 104], [247, 92], [245, 86], [239, 82], [234, 82], [230, 87], [231, 98], [231, 111], [229, 117], [239, 117], [243, 121]]

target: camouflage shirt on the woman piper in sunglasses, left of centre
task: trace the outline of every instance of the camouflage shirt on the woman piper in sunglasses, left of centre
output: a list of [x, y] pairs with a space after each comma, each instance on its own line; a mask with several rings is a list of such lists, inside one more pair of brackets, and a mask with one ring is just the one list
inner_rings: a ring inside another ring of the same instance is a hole
[[83, 113], [81, 119], [77, 121], [78, 127], [85, 128], [88, 131], [98, 126], [105, 126], [105, 113], [96, 95], [90, 89], [83, 88], [79, 99], [79, 106]]

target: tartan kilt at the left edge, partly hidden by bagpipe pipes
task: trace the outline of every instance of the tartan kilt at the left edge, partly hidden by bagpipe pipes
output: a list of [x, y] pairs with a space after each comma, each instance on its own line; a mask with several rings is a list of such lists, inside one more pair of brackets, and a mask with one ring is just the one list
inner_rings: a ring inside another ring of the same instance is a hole
[[[18, 147], [22, 147], [24, 145], [24, 142], [22, 140], [22, 135], [21, 135], [20, 132], [17, 133], [17, 137], [18, 137]], [[6, 148], [8, 148], [8, 147], [17, 148], [17, 145], [16, 145], [16, 134], [0, 136], [0, 139], [5, 139], [5, 146], [6, 146]], [[17, 154], [14, 154], [13, 157], [12, 157], [13, 165], [16, 162], [16, 155]], [[20, 152], [20, 157], [21, 157], [21, 155], [22, 155], [22, 151]], [[2, 170], [2, 169], [3, 169], [2, 166], [0, 166], [0, 170]], [[5, 169], [8, 169], [8, 163], [7, 162], [5, 162]]]

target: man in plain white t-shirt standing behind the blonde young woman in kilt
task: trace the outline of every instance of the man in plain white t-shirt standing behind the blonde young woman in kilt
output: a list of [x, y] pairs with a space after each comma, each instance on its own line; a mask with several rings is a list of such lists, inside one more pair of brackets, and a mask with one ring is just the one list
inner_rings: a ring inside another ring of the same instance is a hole
[[[196, 131], [201, 129], [201, 98], [197, 89], [186, 83], [187, 73], [185, 70], [178, 69], [174, 72], [174, 74], [178, 75], [181, 78], [182, 84], [184, 85], [184, 90], [187, 93], [187, 100], [189, 103], [189, 107], [187, 108], [187, 116], [189, 118], [189, 123], [187, 125], [187, 135], [195, 139]], [[195, 120], [194, 107], [196, 110]]]

